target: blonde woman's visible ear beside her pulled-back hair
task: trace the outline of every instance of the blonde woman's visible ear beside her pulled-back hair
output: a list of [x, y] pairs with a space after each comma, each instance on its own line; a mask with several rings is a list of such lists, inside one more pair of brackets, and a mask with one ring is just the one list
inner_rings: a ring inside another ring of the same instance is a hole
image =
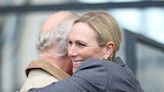
[[111, 58], [115, 49], [115, 43], [113, 41], [109, 41], [105, 46], [106, 52], [104, 58]]

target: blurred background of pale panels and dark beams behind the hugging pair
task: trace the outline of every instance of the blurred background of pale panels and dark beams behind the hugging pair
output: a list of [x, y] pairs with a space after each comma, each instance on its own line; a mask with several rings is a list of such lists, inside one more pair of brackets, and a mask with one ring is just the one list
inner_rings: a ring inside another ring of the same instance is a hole
[[59, 10], [79, 15], [94, 10], [111, 13], [123, 33], [118, 55], [145, 92], [164, 91], [163, 0], [0, 0], [0, 92], [21, 88], [25, 68], [37, 59], [38, 31]]

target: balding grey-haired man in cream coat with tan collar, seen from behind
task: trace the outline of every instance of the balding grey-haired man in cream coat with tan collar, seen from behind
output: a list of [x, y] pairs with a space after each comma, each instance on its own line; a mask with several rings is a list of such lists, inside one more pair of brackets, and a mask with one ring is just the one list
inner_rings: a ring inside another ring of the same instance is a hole
[[[45, 21], [39, 33], [39, 59], [32, 61], [26, 69], [27, 79], [21, 91], [45, 87], [72, 75], [72, 62], [67, 55], [67, 36], [77, 15], [60, 11]], [[68, 73], [68, 74], [67, 74]]]

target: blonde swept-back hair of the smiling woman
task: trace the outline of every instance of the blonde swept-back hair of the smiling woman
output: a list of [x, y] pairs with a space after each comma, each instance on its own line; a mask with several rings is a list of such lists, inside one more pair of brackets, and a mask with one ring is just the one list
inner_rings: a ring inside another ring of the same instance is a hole
[[82, 15], [75, 23], [87, 23], [93, 30], [98, 33], [98, 45], [105, 46], [109, 41], [115, 44], [112, 57], [120, 48], [121, 32], [115, 19], [108, 13], [103, 11], [88, 12]]

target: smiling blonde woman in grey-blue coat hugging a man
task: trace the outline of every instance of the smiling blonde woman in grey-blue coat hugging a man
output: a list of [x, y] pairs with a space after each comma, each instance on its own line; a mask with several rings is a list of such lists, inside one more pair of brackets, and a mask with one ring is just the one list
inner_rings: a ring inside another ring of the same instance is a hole
[[69, 35], [72, 77], [30, 92], [143, 92], [131, 70], [115, 57], [120, 43], [121, 33], [111, 15], [84, 14]]

